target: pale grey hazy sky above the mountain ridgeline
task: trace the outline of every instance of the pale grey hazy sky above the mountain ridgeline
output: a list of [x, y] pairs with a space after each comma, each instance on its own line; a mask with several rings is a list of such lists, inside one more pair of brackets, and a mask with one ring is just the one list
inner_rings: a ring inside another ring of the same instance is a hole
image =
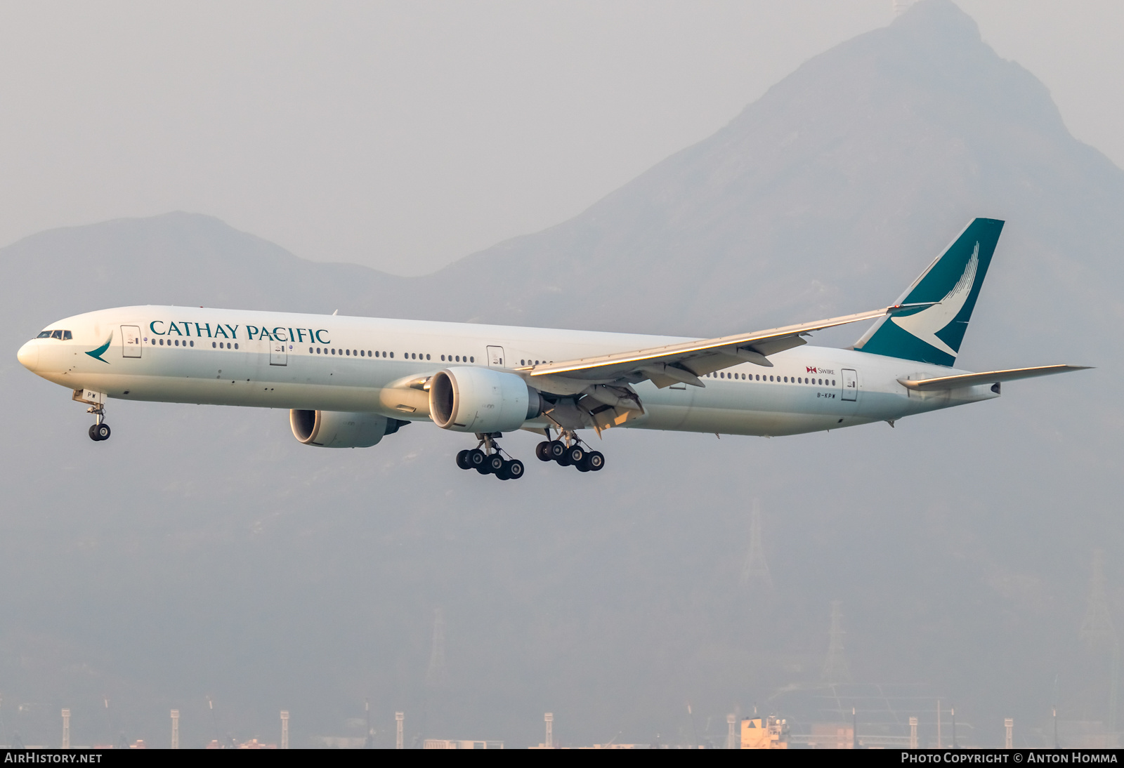
[[[1124, 3], [961, 0], [1124, 165]], [[0, 244], [169, 210], [420, 274], [556, 223], [891, 0], [0, 3]]]

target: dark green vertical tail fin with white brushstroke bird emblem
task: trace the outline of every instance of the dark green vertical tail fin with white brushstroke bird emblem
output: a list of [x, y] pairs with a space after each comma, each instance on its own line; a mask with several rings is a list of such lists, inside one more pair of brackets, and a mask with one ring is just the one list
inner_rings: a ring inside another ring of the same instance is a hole
[[880, 319], [854, 348], [935, 365], [955, 363], [1000, 231], [998, 219], [973, 220], [896, 302], [936, 303]]

